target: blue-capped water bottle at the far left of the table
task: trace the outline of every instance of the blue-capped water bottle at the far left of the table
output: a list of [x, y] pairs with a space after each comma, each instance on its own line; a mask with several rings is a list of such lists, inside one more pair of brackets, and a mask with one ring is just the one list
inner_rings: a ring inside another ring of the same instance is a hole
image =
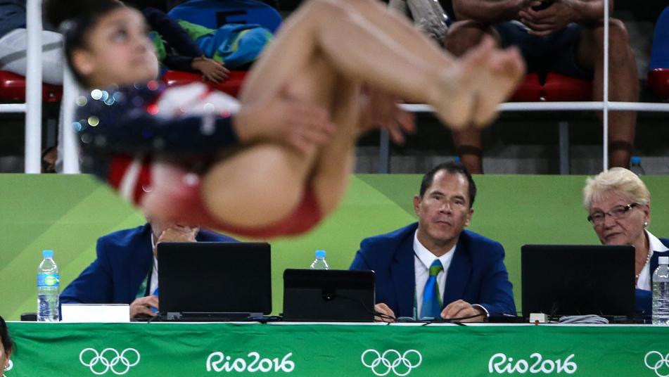
[[37, 268], [37, 321], [58, 321], [58, 266], [53, 262], [53, 250], [42, 251], [42, 257]]

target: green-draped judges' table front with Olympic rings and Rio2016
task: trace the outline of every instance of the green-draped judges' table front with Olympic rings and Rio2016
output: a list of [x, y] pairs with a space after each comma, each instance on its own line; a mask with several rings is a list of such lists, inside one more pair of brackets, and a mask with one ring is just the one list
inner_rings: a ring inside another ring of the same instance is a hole
[[10, 322], [19, 376], [669, 376], [669, 327]]

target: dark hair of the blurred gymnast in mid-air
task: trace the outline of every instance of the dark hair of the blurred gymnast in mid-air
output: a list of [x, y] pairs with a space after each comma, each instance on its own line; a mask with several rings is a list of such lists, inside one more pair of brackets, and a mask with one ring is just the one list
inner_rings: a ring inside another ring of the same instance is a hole
[[44, 14], [46, 20], [58, 27], [65, 39], [65, 57], [79, 84], [85, 85], [86, 80], [72, 64], [72, 52], [77, 49], [86, 49], [88, 32], [98, 20], [118, 8], [122, 8], [118, 0], [46, 0]]

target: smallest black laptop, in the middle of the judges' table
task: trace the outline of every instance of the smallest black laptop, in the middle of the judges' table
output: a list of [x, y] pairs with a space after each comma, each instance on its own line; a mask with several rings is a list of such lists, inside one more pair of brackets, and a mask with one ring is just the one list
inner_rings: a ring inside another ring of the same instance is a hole
[[283, 271], [283, 321], [374, 321], [374, 302], [374, 271]]

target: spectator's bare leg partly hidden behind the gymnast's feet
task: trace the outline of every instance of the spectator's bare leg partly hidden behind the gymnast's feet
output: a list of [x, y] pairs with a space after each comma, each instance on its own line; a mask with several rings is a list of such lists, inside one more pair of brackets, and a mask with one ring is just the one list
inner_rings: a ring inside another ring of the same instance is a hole
[[[449, 27], [444, 45], [454, 56], [463, 56], [478, 45], [485, 34], [492, 35], [499, 44], [499, 33], [492, 27], [474, 21], [460, 21]], [[483, 174], [481, 130], [468, 127], [452, 133], [455, 152], [460, 161], [472, 174]]]

